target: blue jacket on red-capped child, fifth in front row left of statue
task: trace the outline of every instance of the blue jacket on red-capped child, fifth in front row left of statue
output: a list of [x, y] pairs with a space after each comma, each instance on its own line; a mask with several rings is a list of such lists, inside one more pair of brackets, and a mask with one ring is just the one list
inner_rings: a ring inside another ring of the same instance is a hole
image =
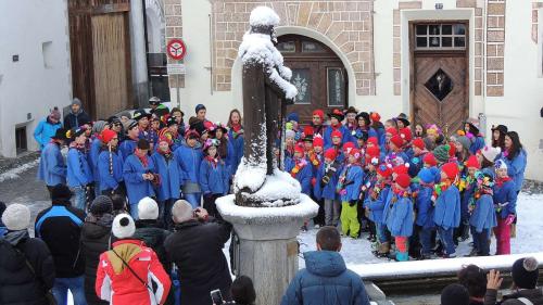
[[[98, 175], [100, 176], [100, 192], [111, 189], [115, 190], [118, 183], [123, 181], [123, 167], [124, 161], [121, 152], [113, 151], [111, 153], [111, 161], [113, 163], [113, 168], [110, 168], [110, 152], [103, 150], [98, 156]], [[113, 175], [111, 174], [113, 169]]]

